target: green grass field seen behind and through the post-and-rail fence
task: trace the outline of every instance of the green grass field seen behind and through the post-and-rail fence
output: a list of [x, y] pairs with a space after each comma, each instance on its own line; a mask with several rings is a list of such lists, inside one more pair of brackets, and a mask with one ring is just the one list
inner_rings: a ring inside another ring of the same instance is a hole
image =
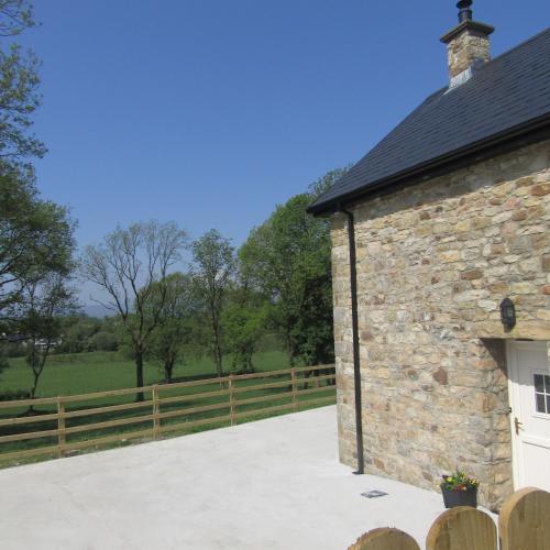
[[[227, 361], [228, 366], [230, 361]], [[286, 355], [280, 351], [266, 351], [257, 353], [254, 358], [254, 365], [256, 372], [273, 372], [288, 369], [288, 361]], [[229, 373], [228, 373], [229, 374]], [[301, 376], [301, 375], [300, 375]], [[195, 361], [191, 364], [179, 364], [175, 369], [174, 377], [178, 382], [188, 381], [202, 381], [205, 378], [216, 377], [215, 367], [211, 361], [201, 360]], [[302, 378], [304, 380], [304, 378]], [[158, 366], [154, 364], [145, 365], [145, 384], [156, 384], [162, 381], [162, 373]], [[279, 387], [275, 388], [260, 388], [257, 385], [265, 383], [275, 383]], [[327, 385], [327, 382], [321, 381], [318, 386], [322, 387]], [[0, 374], [0, 391], [15, 391], [15, 389], [28, 389], [31, 384], [30, 367], [24, 363], [22, 359], [16, 359], [11, 361], [11, 366]], [[55, 397], [55, 396], [68, 396], [77, 394], [88, 394], [92, 392], [105, 392], [111, 389], [130, 388], [135, 386], [134, 381], [134, 364], [132, 361], [124, 360], [120, 358], [117, 353], [106, 353], [106, 352], [95, 352], [95, 353], [84, 353], [75, 355], [54, 355], [52, 356], [51, 363], [46, 366], [43, 373], [43, 377], [38, 384], [38, 389], [36, 397]], [[292, 404], [293, 394], [289, 386], [289, 374], [282, 373], [280, 375], [271, 376], [267, 378], [254, 378], [254, 380], [239, 380], [235, 382], [235, 388], [239, 388], [239, 399], [261, 399], [261, 403], [242, 404], [239, 405], [238, 411], [241, 415], [251, 415], [246, 418], [240, 419], [241, 421], [250, 421], [260, 418], [266, 418], [268, 416], [275, 416], [277, 414], [285, 414], [285, 411], [265, 411], [262, 410], [263, 407], [276, 407], [282, 405]], [[250, 389], [248, 389], [250, 387]], [[307, 387], [301, 385], [300, 387]], [[311, 387], [311, 385], [309, 386]], [[333, 387], [333, 386], [332, 386]], [[173, 437], [184, 433], [190, 433], [196, 431], [202, 431], [211, 428], [219, 428], [228, 426], [229, 421], [227, 418], [220, 419], [216, 417], [227, 416], [228, 413], [228, 397], [227, 395], [220, 396], [216, 395], [220, 393], [220, 388], [226, 389], [226, 385], [216, 384], [202, 384], [194, 385], [193, 387], [180, 387], [173, 388], [172, 386], [164, 386], [162, 391], [162, 397], [176, 397], [184, 396], [185, 400], [178, 400], [177, 403], [167, 403], [162, 405], [163, 413], [174, 413], [178, 415], [177, 418], [167, 418], [163, 420], [163, 426], [167, 427], [173, 425], [174, 431], [169, 431], [169, 436]], [[326, 388], [330, 389], [330, 388]], [[209, 395], [209, 392], [212, 395]], [[283, 395], [283, 394], [284, 395]], [[200, 395], [199, 395], [200, 394]], [[319, 397], [332, 396], [336, 400], [336, 393], [324, 391], [323, 395]], [[304, 397], [304, 399], [302, 399]], [[307, 398], [315, 398], [316, 395], [300, 396], [298, 402], [300, 403], [299, 409], [311, 408]], [[72, 404], [67, 407], [67, 411], [79, 411], [82, 409], [94, 409], [97, 407], [106, 406], [119, 406], [124, 404], [133, 404], [135, 399], [134, 395], [123, 395], [123, 396], [109, 396], [101, 397], [97, 399], [82, 399], [78, 403]], [[145, 399], [151, 399], [151, 392], [145, 394]], [[328, 404], [328, 403], [327, 403]], [[211, 408], [216, 405], [224, 405], [226, 410], [220, 410], [219, 407], [215, 410], [199, 410], [196, 413], [186, 413], [186, 408]], [[37, 407], [37, 413], [41, 415], [47, 415], [56, 413], [55, 405], [42, 405]], [[140, 417], [143, 415], [151, 414], [151, 406], [148, 409], [145, 408], [132, 408], [129, 410], [118, 410], [116, 413], [95, 413], [89, 415], [87, 411], [86, 416], [76, 417], [67, 419], [66, 427], [74, 430], [78, 430], [79, 427], [84, 427], [89, 424], [96, 422], [109, 422], [113, 420], [128, 419], [132, 417]], [[179, 414], [180, 411], [182, 414]], [[287, 410], [288, 411], [288, 410]], [[20, 409], [0, 409], [0, 422], [9, 422], [10, 418], [24, 417], [26, 415], [26, 408]], [[212, 419], [209, 422], [209, 419]], [[185, 426], [185, 424], [194, 422], [199, 420], [200, 426]], [[177, 425], [177, 426], [176, 426]], [[151, 427], [151, 420], [144, 420], [143, 422], [132, 424], [129, 426], [118, 426], [100, 428], [94, 431], [75, 432], [67, 438], [68, 443], [80, 443], [89, 441], [94, 438], [120, 436], [124, 438], [127, 433], [131, 433], [134, 430], [148, 429]], [[25, 425], [6, 425], [0, 427], [0, 437], [8, 436], [13, 437], [23, 432], [41, 431], [41, 430], [55, 430], [57, 428], [56, 420], [43, 421], [32, 421]], [[172, 430], [172, 428], [169, 428]], [[19, 438], [20, 436], [18, 436]], [[145, 437], [142, 440], [150, 440], [151, 438]], [[121, 444], [128, 444], [128, 441], [91, 446], [88, 450], [94, 450], [95, 448], [112, 448], [119, 447]], [[44, 458], [52, 458], [55, 453], [50, 453], [43, 457], [30, 457], [24, 459], [11, 460], [3, 459], [2, 452], [16, 452], [25, 451], [30, 449], [38, 449], [46, 446], [57, 444], [57, 437], [43, 437], [40, 439], [31, 439], [25, 441], [8, 441], [0, 442], [0, 468], [14, 465], [19, 463], [35, 462], [37, 460], [43, 460]]]

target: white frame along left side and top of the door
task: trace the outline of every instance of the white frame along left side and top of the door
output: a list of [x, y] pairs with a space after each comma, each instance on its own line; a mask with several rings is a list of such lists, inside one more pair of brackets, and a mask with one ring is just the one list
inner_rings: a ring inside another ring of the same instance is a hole
[[524, 457], [519, 450], [519, 441], [516, 436], [514, 418], [517, 416], [516, 410], [520, 410], [519, 404], [519, 384], [515, 381], [519, 381], [519, 364], [517, 361], [516, 350], [537, 350], [542, 349], [547, 351], [546, 340], [507, 340], [506, 341], [506, 369], [508, 374], [508, 399], [510, 405], [510, 438], [512, 438], [512, 473], [514, 480], [514, 490], [517, 491], [520, 485], [522, 485], [521, 477], [524, 468]]

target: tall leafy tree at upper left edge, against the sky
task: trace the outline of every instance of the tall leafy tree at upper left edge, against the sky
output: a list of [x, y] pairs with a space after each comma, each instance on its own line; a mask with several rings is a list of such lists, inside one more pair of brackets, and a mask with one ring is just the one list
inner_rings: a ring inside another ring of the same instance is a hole
[[38, 62], [13, 37], [34, 24], [31, 2], [0, 0], [0, 320], [29, 278], [67, 273], [74, 245], [67, 211], [40, 199], [29, 164], [45, 153], [31, 132], [40, 105]]

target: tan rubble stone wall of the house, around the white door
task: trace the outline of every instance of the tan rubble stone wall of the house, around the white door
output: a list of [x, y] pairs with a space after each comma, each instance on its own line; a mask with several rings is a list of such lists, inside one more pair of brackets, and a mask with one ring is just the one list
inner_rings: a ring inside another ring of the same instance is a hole
[[[513, 491], [504, 339], [550, 340], [550, 141], [352, 210], [366, 471], [437, 488], [461, 466], [498, 508]], [[355, 466], [342, 216], [332, 241], [340, 458]]]

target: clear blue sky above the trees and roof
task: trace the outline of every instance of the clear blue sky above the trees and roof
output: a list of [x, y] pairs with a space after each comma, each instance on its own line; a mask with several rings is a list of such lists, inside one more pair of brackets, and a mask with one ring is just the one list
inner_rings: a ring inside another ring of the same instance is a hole
[[[449, 0], [36, 0], [43, 195], [78, 242], [175, 220], [241, 243], [276, 204], [358, 161], [447, 82]], [[548, 0], [476, 0], [495, 55]]]

